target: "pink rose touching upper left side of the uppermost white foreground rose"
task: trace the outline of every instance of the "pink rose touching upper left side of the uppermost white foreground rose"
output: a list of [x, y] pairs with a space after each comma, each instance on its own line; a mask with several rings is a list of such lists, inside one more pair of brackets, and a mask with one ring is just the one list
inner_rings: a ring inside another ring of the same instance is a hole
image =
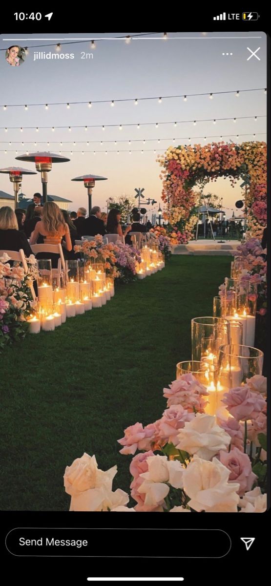
[[185, 421], [191, 421], [195, 413], [188, 413], [182, 405], [172, 405], [165, 409], [159, 423], [160, 437], [174, 445], [178, 444], [177, 435]]

